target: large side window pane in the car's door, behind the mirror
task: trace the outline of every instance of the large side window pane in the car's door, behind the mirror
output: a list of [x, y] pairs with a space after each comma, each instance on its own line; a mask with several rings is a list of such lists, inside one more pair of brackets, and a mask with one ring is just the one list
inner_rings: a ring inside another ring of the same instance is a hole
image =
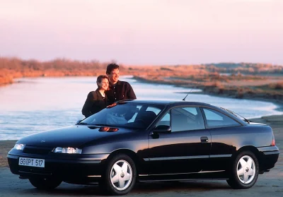
[[171, 109], [171, 131], [204, 129], [204, 120], [199, 107], [175, 107]]

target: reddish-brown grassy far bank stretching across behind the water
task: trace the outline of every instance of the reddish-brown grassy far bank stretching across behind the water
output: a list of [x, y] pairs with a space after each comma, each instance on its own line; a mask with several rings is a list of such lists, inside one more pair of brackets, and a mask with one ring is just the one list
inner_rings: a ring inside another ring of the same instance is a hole
[[[23, 60], [0, 57], [0, 86], [16, 78], [98, 76], [105, 74], [109, 62]], [[120, 64], [121, 75], [143, 82], [200, 88], [207, 94], [236, 98], [283, 100], [283, 66], [253, 63], [142, 66]]]

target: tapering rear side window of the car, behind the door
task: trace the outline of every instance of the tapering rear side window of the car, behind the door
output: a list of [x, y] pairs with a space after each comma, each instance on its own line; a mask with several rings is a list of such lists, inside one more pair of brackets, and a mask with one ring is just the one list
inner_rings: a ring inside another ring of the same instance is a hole
[[238, 121], [235, 121], [214, 109], [204, 108], [203, 111], [204, 116], [207, 119], [207, 126], [209, 127], [241, 126]]

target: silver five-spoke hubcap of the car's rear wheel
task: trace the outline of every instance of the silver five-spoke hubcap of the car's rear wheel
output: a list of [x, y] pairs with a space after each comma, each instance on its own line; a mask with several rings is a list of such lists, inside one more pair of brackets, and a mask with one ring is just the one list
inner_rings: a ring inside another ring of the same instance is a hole
[[253, 158], [244, 155], [237, 164], [237, 176], [243, 184], [249, 184], [255, 178], [255, 162]]

